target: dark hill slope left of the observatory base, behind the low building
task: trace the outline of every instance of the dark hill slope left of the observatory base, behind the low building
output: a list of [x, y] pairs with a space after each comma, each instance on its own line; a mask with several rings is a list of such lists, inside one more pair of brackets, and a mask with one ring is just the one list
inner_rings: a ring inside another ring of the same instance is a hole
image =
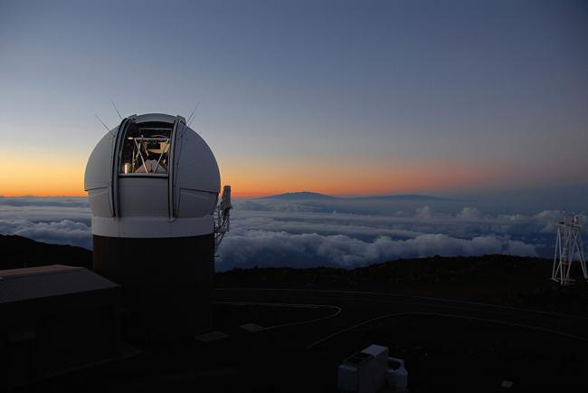
[[91, 269], [92, 252], [64, 244], [46, 244], [17, 235], [0, 235], [0, 269], [66, 264]]

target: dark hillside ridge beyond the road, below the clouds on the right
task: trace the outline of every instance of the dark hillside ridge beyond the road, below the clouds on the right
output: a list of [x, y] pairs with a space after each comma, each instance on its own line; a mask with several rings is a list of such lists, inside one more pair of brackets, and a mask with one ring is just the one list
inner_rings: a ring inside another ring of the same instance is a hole
[[549, 279], [551, 266], [547, 259], [510, 255], [435, 256], [353, 270], [233, 269], [216, 273], [215, 285], [394, 292], [588, 314], [588, 284], [562, 288]]

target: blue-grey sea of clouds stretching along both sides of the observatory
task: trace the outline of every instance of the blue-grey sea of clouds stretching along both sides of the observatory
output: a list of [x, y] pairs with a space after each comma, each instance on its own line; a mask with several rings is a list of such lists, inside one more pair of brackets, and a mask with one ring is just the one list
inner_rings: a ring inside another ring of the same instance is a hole
[[[488, 214], [460, 201], [234, 200], [217, 270], [351, 268], [398, 258], [551, 256], [561, 212]], [[85, 197], [0, 197], [0, 234], [91, 248]]]

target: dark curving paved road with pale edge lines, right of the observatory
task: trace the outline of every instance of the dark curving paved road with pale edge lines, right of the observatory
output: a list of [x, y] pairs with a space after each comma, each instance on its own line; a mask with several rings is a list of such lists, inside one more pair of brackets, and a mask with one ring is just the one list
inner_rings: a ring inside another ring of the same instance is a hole
[[365, 322], [403, 315], [430, 315], [487, 321], [548, 335], [588, 342], [588, 318], [440, 298], [407, 296], [384, 292], [354, 292], [303, 289], [222, 288], [215, 291], [216, 302], [308, 304], [333, 309], [330, 317], [300, 321], [277, 329], [295, 329], [305, 337], [305, 348], [317, 346], [330, 336], [345, 334]]

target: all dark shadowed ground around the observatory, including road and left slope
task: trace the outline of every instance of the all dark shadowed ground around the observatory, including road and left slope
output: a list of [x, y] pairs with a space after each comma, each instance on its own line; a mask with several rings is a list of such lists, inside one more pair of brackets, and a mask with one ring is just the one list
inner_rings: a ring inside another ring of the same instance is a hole
[[[1, 239], [3, 268], [90, 264], [85, 249]], [[582, 390], [588, 291], [550, 273], [549, 260], [505, 255], [233, 269], [214, 276], [221, 339], [132, 341], [122, 359], [15, 391], [336, 392], [341, 359], [372, 343], [406, 360], [413, 392]]]

